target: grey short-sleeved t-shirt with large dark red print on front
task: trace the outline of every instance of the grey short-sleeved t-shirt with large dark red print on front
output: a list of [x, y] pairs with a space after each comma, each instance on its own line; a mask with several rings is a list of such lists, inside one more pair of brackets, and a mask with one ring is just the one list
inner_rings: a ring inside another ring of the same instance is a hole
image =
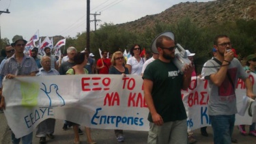
[[208, 80], [209, 102], [208, 102], [208, 114], [209, 115], [233, 115], [237, 113], [236, 109], [236, 93], [235, 87], [238, 83], [238, 78], [247, 78], [248, 75], [244, 72], [242, 65], [238, 59], [234, 58], [228, 66], [227, 72], [231, 78], [229, 81], [228, 76], [220, 87], [214, 85], [210, 80], [211, 74], [216, 74], [220, 69], [220, 64], [214, 59], [210, 59], [205, 63], [201, 74]]

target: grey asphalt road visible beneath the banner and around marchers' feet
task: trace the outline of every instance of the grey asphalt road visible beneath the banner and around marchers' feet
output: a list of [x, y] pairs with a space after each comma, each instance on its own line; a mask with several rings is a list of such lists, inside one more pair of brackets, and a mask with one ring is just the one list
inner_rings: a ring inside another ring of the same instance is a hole
[[[61, 144], [70, 144], [73, 143], [74, 134], [72, 128], [64, 131], [62, 130], [63, 121], [57, 119], [55, 125], [55, 139], [46, 138], [47, 143], [61, 143]], [[84, 127], [81, 126], [81, 129], [84, 131]], [[204, 143], [213, 143], [212, 142], [212, 128], [208, 127], [208, 137], [201, 136], [200, 130], [194, 130], [193, 136], [197, 139], [196, 144], [204, 144]], [[246, 126], [246, 130], [248, 130], [248, 126]], [[34, 132], [35, 133], [35, 132]], [[0, 113], [0, 143], [1, 144], [9, 144], [11, 143], [11, 132], [8, 128], [7, 121], [5, 119], [4, 113]], [[120, 143], [115, 139], [114, 130], [100, 130], [100, 129], [92, 129], [91, 136], [98, 144], [107, 144], [107, 143]], [[125, 143], [132, 144], [143, 144], [147, 143], [147, 132], [143, 131], [132, 131], [132, 130], [124, 130]], [[243, 144], [254, 144], [256, 143], [256, 137], [253, 136], [242, 136], [238, 128], [236, 127], [233, 132], [233, 138], [238, 139], [238, 143]], [[86, 143], [85, 134], [80, 136], [81, 144]], [[35, 138], [33, 136], [33, 143], [39, 143], [39, 138]]]

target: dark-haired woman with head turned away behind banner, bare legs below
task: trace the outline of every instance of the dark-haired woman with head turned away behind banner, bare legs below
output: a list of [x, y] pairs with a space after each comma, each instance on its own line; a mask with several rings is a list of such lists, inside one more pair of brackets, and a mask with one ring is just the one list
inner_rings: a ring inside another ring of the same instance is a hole
[[[84, 68], [87, 65], [87, 56], [86, 53], [76, 53], [76, 55], [74, 55], [74, 63], [76, 63], [75, 66], [73, 66], [72, 68], [70, 68], [66, 74], [88, 74], [88, 71]], [[79, 140], [79, 124], [75, 124], [70, 122], [70, 125], [73, 126], [73, 130], [74, 130], [74, 144], [79, 144], [80, 140]], [[91, 139], [91, 129], [85, 127], [85, 134], [87, 136], [87, 143], [89, 144], [96, 144], [96, 142], [94, 142]]]

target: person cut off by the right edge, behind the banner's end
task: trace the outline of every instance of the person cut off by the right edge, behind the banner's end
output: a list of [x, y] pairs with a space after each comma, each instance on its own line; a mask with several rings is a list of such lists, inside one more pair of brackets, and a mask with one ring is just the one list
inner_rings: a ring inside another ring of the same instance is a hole
[[[244, 67], [244, 70], [248, 73], [253, 72], [256, 74], [256, 54], [248, 55], [247, 61], [246, 61], [246, 66]], [[245, 125], [238, 126], [238, 129], [242, 135], [246, 135]], [[250, 126], [249, 135], [256, 136], [255, 123], [253, 123]]]

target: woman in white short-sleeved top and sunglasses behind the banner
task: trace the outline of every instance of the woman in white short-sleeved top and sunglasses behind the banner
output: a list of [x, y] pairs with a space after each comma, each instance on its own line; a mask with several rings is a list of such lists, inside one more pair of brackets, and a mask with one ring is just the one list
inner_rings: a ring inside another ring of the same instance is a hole
[[130, 57], [126, 63], [126, 68], [128, 68], [129, 74], [141, 75], [141, 70], [145, 60], [140, 56], [140, 54], [141, 46], [139, 46], [139, 44], [134, 44], [134, 46], [130, 48], [130, 55], [132, 55], [132, 57]]

